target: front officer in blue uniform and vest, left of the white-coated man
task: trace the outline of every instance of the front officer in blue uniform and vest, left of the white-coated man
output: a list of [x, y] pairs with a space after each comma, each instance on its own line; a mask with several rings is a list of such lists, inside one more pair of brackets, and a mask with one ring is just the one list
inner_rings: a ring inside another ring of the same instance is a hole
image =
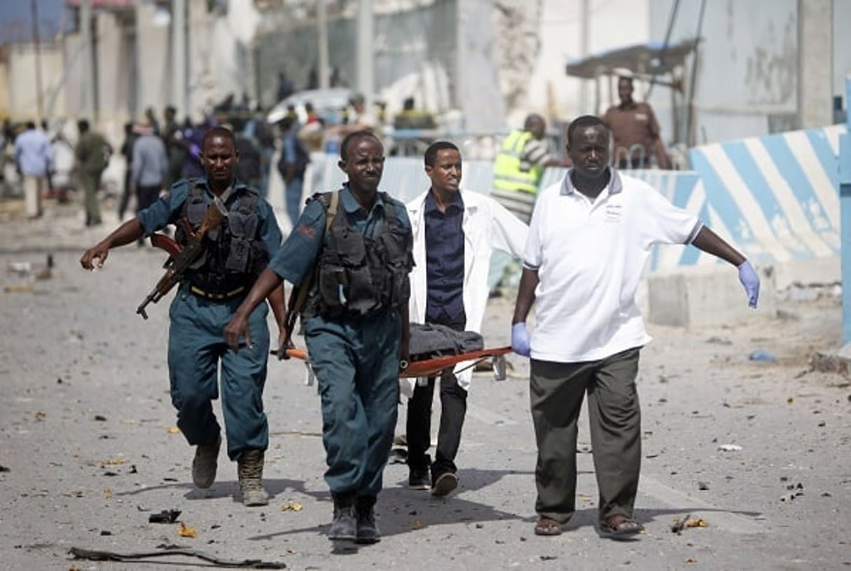
[[404, 204], [378, 191], [384, 150], [374, 134], [347, 135], [339, 165], [348, 182], [335, 197], [317, 195], [307, 203], [225, 328], [225, 339], [234, 349], [252, 346], [254, 306], [283, 280], [298, 288], [310, 279], [300, 317], [322, 397], [325, 481], [334, 498], [328, 539], [374, 543], [400, 360], [408, 359], [411, 226]]

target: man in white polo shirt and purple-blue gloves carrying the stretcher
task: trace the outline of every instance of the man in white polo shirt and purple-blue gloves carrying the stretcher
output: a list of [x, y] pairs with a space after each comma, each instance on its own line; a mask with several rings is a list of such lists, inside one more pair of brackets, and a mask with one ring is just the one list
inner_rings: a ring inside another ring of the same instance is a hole
[[[688, 244], [739, 269], [751, 307], [759, 277], [735, 248], [642, 180], [608, 166], [611, 133], [599, 117], [568, 127], [574, 168], [540, 192], [523, 255], [511, 346], [531, 357], [538, 444], [534, 533], [557, 535], [576, 499], [577, 420], [588, 393], [603, 536], [643, 530], [632, 517], [641, 467], [638, 354], [650, 336], [636, 290], [655, 243]], [[531, 340], [526, 317], [535, 303]]]

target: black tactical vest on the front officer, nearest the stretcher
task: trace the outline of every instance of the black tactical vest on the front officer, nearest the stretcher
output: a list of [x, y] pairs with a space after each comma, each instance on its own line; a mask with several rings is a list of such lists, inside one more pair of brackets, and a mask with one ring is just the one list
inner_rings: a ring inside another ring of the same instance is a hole
[[[364, 316], [408, 303], [408, 273], [414, 266], [413, 237], [402, 226], [386, 192], [384, 221], [377, 237], [364, 237], [349, 226], [345, 212], [334, 216], [317, 257], [316, 274], [302, 318]], [[330, 192], [314, 195], [328, 211]]]

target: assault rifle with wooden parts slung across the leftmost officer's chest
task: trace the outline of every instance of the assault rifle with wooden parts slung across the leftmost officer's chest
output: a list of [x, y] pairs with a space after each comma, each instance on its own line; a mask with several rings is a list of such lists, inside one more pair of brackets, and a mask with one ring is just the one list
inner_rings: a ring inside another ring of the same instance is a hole
[[168, 260], [165, 260], [165, 264], [163, 264], [163, 267], [166, 269], [165, 274], [159, 279], [157, 285], [151, 290], [151, 293], [147, 295], [145, 301], [136, 308], [136, 313], [144, 319], [148, 318], [148, 314], [145, 312], [146, 305], [151, 302], [157, 303], [163, 295], [171, 291], [171, 288], [174, 288], [176, 284], [180, 283], [180, 280], [183, 279], [183, 274], [203, 252], [203, 238], [207, 236], [209, 231], [221, 226], [222, 221], [226, 218], [227, 210], [225, 205], [220, 200], [216, 200], [207, 208], [207, 214], [204, 216], [204, 220], [201, 222], [201, 226], [198, 227], [197, 231], [192, 231], [191, 224], [186, 218], [180, 220], [188, 237], [186, 246], [183, 248], [180, 248], [180, 244], [174, 242], [174, 239], [164, 234], [153, 234], [151, 236], [151, 244], [153, 246], [162, 248], [171, 255], [168, 256]]

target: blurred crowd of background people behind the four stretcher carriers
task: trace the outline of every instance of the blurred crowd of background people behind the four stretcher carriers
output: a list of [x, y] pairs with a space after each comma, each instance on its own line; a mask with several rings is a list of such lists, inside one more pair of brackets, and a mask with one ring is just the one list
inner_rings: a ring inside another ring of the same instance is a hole
[[[277, 83], [278, 100], [286, 100], [295, 93], [294, 83], [284, 71], [279, 73]], [[335, 87], [345, 85], [340, 77], [336, 78]], [[654, 111], [647, 102], [634, 100], [633, 93], [632, 78], [619, 77], [620, 103], [609, 107], [603, 116], [612, 128], [613, 161], [619, 168], [670, 168]], [[123, 184], [117, 191], [119, 219], [128, 214], [131, 203], [137, 209], [145, 208], [157, 193], [166, 191], [175, 181], [202, 176], [201, 141], [208, 128], [215, 125], [227, 126], [234, 132], [240, 156], [237, 177], [256, 187], [263, 197], [269, 197], [272, 167], [276, 168], [284, 181], [283, 204], [292, 223], [302, 206], [307, 164], [313, 164], [312, 184], [307, 186], [316, 187], [321, 182], [317, 179], [321, 178], [328, 153], [337, 152], [346, 134], [356, 131], [376, 134], [385, 143], [388, 156], [420, 154], [440, 137], [437, 117], [418, 109], [414, 97], [406, 98], [402, 110], [393, 116], [388, 115], [384, 102], [376, 101], [368, 106], [363, 94], [354, 91], [348, 105], [338, 110], [331, 121], [327, 114], [318, 113], [310, 101], [301, 107], [297, 110], [294, 105], [288, 106], [286, 116], [277, 124], [268, 123], [267, 111], [252, 106], [246, 95], [239, 100], [233, 94], [228, 95], [200, 122], [193, 122], [188, 116], [180, 121], [178, 110], [171, 105], [163, 109], [161, 116], [154, 108], [147, 108], [140, 120], [124, 125], [123, 140], [118, 146], [127, 166]], [[65, 129], [56, 125], [51, 132], [47, 121], [41, 125], [34, 121], [17, 125], [4, 121], [0, 139], [3, 163], [14, 156], [18, 187], [26, 197], [25, 212], [30, 220], [37, 220], [43, 214], [43, 197], [64, 201], [68, 190], [77, 189], [83, 197], [86, 225], [97, 225], [101, 177], [109, 165], [112, 147], [96, 129], [89, 128], [86, 118], [77, 123], [76, 143], [69, 142], [64, 132]], [[527, 222], [544, 168], [569, 165], [567, 157], [553, 145], [557, 138], [550, 135], [545, 118], [530, 114], [523, 128], [505, 136], [495, 157], [494, 197]], [[154, 137], [163, 145], [155, 144]], [[143, 144], [134, 153], [137, 140]], [[59, 177], [63, 184], [56, 184], [55, 176], [54, 146], [59, 144], [66, 144], [75, 157], [67, 173], [70, 177]], [[278, 150], [280, 159], [273, 164]], [[165, 170], [161, 171], [163, 163]], [[9, 180], [3, 174], [5, 168], [0, 168], [0, 184], [8, 189]]]

